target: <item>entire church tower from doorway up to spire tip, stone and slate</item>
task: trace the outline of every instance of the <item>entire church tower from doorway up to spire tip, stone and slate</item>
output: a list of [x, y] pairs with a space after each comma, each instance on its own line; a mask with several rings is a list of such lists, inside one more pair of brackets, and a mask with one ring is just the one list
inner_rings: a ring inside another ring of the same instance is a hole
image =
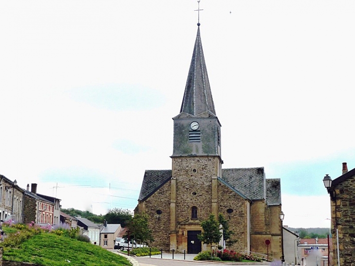
[[197, 26], [180, 113], [173, 118], [171, 156], [170, 249], [188, 253], [201, 251], [201, 243], [193, 240], [202, 230], [201, 221], [218, 215], [217, 177], [221, 177], [222, 164], [221, 124], [214, 109], [200, 23]]

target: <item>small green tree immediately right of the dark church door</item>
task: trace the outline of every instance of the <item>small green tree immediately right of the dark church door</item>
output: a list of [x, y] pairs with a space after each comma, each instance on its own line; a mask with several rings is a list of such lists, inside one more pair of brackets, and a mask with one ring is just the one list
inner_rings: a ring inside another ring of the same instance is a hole
[[214, 215], [211, 214], [208, 220], [203, 221], [201, 223], [201, 227], [203, 229], [203, 232], [197, 235], [197, 238], [203, 241], [203, 243], [211, 245], [212, 254], [212, 244], [218, 243], [222, 236], [222, 232], [219, 231], [219, 223], [214, 218]]

